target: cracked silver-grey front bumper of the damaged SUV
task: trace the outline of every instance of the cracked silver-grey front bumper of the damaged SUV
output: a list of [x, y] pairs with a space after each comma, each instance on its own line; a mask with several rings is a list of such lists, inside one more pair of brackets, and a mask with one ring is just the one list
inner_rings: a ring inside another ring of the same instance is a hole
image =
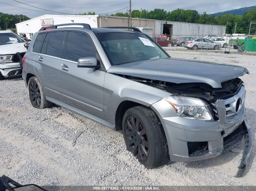
[[[178, 117], [176, 113], [173, 113], [175, 111], [169, 105], [165, 100], [160, 100], [152, 104], [151, 108], [157, 113], [163, 125], [171, 161], [191, 162], [216, 157], [224, 151], [224, 141], [229, 138], [229, 135], [234, 134], [235, 130], [241, 128], [244, 131], [251, 131], [246, 122], [244, 105], [239, 113], [227, 117], [226, 123], [223, 125], [221, 125], [220, 121]], [[191, 142], [206, 144], [205, 151], [191, 154], [189, 152], [189, 144]], [[248, 142], [251, 144], [251, 136], [249, 136]], [[248, 150], [249, 154], [247, 155], [249, 156], [250, 149]]]

